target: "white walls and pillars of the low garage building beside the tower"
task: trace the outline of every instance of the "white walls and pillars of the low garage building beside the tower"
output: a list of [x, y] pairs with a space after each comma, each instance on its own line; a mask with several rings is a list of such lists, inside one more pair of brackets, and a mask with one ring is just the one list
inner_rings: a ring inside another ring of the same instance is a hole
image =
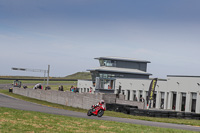
[[[146, 101], [146, 92], [149, 91], [150, 79], [124, 79], [117, 78], [115, 80], [115, 93], [118, 92], [119, 86], [124, 91], [126, 100], [133, 100], [133, 91], [136, 91], [136, 97], [139, 101], [140, 91], [142, 97]], [[92, 86], [92, 81], [78, 80], [78, 88], [95, 89]], [[128, 93], [128, 90], [130, 93]], [[191, 112], [192, 93], [197, 93], [196, 99], [196, 113], [200, 113], [200, 77], [174, 77], [168, 76], [167, 80], [158, 80], [155, 88], [157, 93], [156, 108], [160, 108], [161, 92], [164, 92], [164, 109], [172, 109], [173, 93], [176, 93], [176, 111], [181, 111], [182, 93], [186, 93], [185, 111]], [[128, 96], [128, 94], [130, 94]]]

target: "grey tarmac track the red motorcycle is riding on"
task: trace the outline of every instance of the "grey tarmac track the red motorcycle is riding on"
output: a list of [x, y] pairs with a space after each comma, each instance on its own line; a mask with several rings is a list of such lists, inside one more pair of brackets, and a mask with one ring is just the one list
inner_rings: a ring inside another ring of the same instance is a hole
[[116, 121], [116, 122], [132, 123], [132, 124], [139, 124], [139, 125], [146, 125], [146, 126], [200, 131], [200, 127], [181, 125], [181, 124], [151, 122], [151, 121], [135, 120], [135, 119], [133, 120], [133, 119], [110, 117], [110, 116], [103, 116], [101, 118], [96, 117], [96, 116], [89, 117], [85, 113], [47, 107], [47, 106], [23, 101], [20, 99], [15, 99], [1, 93], [0, 93], [0, 107], [8, 107], [8, 108], [14, 108], [14, 109], [19, 109], [19, 110], [28, 110], [28, 111], [37, 111], [37, 112], [43, 112], [43, 113], [49, 113], [49, 114], [65, 115], [65, 116], [79, 117], [79, 118], [86, 118], [86, 119]]

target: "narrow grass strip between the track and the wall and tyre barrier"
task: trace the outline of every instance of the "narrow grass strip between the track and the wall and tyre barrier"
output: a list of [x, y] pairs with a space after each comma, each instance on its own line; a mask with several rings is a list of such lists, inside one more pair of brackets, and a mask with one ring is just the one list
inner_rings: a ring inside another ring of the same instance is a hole
[[[64, 105], [54, 104], [54, 103], [49, 103], [49, 102], [46, 102], [46, 101], [41, 101], [41, 100], [37, 100], [37, 99], [25, 97], [25, 96], [13, 94], [13, 93], [8, 92], [8, 90], [0, 89], [0, 93], [6, 94], [6, 95], [9, 95], [9, 96], [18, 98], [18, 99], [22, 99], [22, 100], [25, 100], [25, 101], [46, 105], [46, 106], [49, 106], [49, 107], [87, 113], [87, 110], [85, 110], [85, 109], [74, 108], [74, 107], [69, 107], [69, 106], [64, 106]], [[155, 122], [164, 122], [164, 123], [175, 123], [175, 124], [185, 124], [185, 125], [192, 125], [192, 126], [200, 126], [200, 121], [199, 120], [134, 116], [134, 115], [128, 115], [128, 114], [114, 112], [114, 111], [105, 111], [104, 115], [112, 116], [112, 117], [128, 118], [128, 119], [138, 119], [138, 120], [146, 120], [146, 121], [155, 121]]]

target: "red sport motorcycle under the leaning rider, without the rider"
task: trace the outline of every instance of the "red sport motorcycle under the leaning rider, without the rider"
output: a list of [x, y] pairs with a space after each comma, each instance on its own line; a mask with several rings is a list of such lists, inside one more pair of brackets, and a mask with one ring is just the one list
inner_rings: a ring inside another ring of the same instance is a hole
[[103, 116], [104, 111], [106, 111], [106, 108], [104, 106], [94, 106], [94, 105], [92, 105], [91, 109], [88, 110], [87, 115], [88, 116], [94, 115], [94, 116], [101, 117], [101, 116]]

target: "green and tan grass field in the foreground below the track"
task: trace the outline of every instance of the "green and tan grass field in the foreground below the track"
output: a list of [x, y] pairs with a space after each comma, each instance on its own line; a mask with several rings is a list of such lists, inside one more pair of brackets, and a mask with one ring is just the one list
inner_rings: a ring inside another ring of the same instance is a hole
[[1, 133], [192, 133], [191, 131], [150, 127], [128, 123], [91, 120], [0, 108]]

